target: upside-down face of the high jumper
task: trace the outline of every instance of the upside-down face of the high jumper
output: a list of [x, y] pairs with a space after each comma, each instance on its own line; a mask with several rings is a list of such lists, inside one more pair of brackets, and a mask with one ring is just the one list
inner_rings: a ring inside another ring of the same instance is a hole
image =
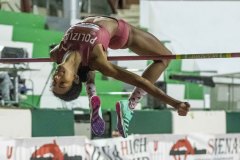
[[73, 81], [74, 73], [63, 65], [59, 65], [53, 75], [52, 91], [57, 94], [64, 94], [71, 88]]

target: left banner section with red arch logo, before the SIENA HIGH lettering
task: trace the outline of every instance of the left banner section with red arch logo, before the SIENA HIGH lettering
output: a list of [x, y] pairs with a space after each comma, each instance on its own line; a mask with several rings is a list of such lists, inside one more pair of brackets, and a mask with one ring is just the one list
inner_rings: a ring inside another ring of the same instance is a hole
[[86, 137], [0, 140], [1, 160], [82, 160]]

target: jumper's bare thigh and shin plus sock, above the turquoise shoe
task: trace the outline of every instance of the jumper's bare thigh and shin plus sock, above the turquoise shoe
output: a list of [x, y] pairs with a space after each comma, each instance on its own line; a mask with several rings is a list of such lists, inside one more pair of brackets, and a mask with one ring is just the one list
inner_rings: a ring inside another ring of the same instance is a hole
[[[128, 48], [138, 55], [170, 55], [172, 54], [154, 35], [131, 26]], [[142, 76], [152, 83], [156, 82], [166, 69], [170, 60], [153, 61]], [[130, 95], [130, 107], [133, 109], [146, 94], [141, 88], [135, 88]]]

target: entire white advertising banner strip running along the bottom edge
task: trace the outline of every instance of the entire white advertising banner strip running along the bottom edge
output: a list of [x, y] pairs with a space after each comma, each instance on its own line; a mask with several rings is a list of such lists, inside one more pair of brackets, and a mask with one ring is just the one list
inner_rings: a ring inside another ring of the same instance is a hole
[[1, 160], [240, 160], [240, 134], [0, 140]]

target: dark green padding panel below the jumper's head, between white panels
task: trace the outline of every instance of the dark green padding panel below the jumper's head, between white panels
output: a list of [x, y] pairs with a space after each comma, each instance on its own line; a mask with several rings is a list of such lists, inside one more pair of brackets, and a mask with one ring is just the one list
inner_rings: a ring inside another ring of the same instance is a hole
[[51, 109], [32, 110], [32, 137], [73, 135], [73, 111]]

